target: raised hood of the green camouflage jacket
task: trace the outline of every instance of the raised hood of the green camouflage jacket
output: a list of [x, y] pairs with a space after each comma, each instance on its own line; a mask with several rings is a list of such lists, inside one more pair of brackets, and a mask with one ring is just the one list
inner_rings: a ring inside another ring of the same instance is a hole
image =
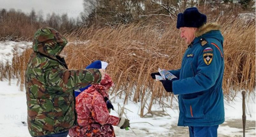
[[66, 38], [57, 30], [50, 27], [43, 27], [34, 34], [33, 50], [55, 58], [67, 43]]

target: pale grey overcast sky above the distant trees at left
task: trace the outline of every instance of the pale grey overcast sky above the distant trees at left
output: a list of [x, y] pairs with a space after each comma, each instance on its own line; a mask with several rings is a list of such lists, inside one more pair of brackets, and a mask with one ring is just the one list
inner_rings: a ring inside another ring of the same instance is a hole
[[21, 9], [29, 13], [32, 8], [36, 12], [42, 10], [44, 17], [47, 13], [67, 13], [69, 17], [76, 18], [83, 12], [83, 0], [0, 0], [0, 9]]

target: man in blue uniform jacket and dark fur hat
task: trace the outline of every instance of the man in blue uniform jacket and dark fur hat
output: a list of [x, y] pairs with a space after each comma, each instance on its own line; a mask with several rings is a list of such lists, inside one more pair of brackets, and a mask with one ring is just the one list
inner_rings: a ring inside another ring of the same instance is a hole
[[[216, 137], [224, 122], [224, 72], [221, 26], [206, 23], [197, 8], [178, 14], [177, 28], [188, 45], [181, 68], [170, 70], [178, 79], [162, 80], [167, 92], [178, 95], [178, 126], [188, 126], [190, 137]], [[152, 73], [155, 79], [158, 72]]]

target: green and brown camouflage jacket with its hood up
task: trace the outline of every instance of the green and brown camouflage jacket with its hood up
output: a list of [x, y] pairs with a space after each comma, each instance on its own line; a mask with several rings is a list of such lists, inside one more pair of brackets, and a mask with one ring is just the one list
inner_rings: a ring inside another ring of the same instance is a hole
[[52, 28], [41, 28], [34, 35], [35, 52], [25, 76], [31, 136], [69, 130], [75, 121], [73, 90], [101, 81], [98, 69], [69, 70], [57, 59], [66, 44], [66, 38]]

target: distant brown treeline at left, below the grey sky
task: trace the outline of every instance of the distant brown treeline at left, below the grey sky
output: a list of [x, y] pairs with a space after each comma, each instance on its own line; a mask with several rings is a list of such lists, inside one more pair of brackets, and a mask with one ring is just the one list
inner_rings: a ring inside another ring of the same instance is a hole
[[43, 12], [31, 10], [25, 14], [21, 10], [0, 9], [0, 40], [32, 40], [34, 32], [49, 26], [66, 33], [71, 32], [81, 22], [80, 18], [69, 18], [67, 14], [47, 14], [44, 18]]

